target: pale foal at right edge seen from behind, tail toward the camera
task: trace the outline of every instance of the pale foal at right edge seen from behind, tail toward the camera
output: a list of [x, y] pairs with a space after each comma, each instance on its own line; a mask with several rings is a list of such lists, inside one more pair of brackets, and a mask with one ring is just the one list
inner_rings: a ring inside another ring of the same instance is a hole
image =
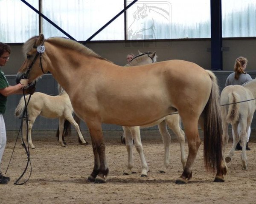
[[[234, 130], [233, 135], [233, 146], [225, 158], [226, 162], [230, 162], [235, 149], [236, 144], [241, 139], [242, 144], [242, 169], [248, 170], [247, 157], [246, 157], [246, 143], [247, 143], [247, 132], [250, 124], [253, 120], [253, 113], [256, 109], [255, 99], [256, 98], [256, 79], [253, 79], [244, 85], [230, 85], [226, 86], [221, 92], [221, 117], [222, 117], [222, 128], [223, 128], [223, 155], [225, 147], [227, 145], [228, 125], [231, 124]], [[244, 102], [243, 102], [244, 101]], [[238, 132], [238, 125], [241, 127], [241, 132]]]

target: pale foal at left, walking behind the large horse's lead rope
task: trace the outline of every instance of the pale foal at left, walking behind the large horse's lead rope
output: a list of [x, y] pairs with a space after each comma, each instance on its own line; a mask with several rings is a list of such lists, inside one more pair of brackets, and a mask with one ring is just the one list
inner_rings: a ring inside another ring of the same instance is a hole
[[[62, 147], [66, 146], [62, 140], [65, 119], [67, 119], [76, 128], [76, 131], [79, 135], [79, 138], [82, 141], [82, 144], [87, 144], [79, 129], [79, 125], [73, 119], [72, 113], [74, 111], [73, 111], [69, 96], [62, 88], [61, 90], [62, 91], [57, 96], [50, 96], [41, 92], [36, 92], [31, 96], [29, 102], [28, 102], [29, 95], [25, 96], [26, 103], [28, 103], [27, 113], [29, 116], [28, 118], [29, 129], [26, 130], [27, 129], [26, 120], [23, 119], [22, 135], [23, 135], [23, 141], [26, 141], [26, 135], [27, 135], [26, 131], [28, 131], [28, 144], [29, 144], [29, 147], [31, 147], [32, 149], [35, 149], [35, 146], [32, 142], [31, 130], [35, 122], [35, 119], [38, 116], [44, 116], [49, 119], [58, 118], [59, 120], [58, 142], [61, 144]], [[24, 98], [21, 97], [20, 102], [18, 103], [15, 109], [15, 116], [16, 117], [21, 116], [24, 110], [25, 110], [25, 101], [24, 101]]]

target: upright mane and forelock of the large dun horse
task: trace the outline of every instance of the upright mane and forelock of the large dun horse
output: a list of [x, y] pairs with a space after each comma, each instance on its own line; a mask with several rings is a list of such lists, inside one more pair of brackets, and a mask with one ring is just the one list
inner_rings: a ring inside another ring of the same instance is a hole
[[[35, 42], [38, 40], [38, 38], [39, 38], [39, 36], [32, 37], [24, 43], [23, 54], [25, 55], [25, 57], [26, 57], [26, 53], [33, 48], [33, 46], [35, 45]], [[96, 57], [98, 59], [104, 59], [104, 60], [109, 61], [108, 59], [101, 57], [99, 54], [96, 54], [94, 51], [92, 51], [91, 49], [82, 45], [81, 43], [76, 42], [74, 40], [70, 40], [68, 38], [50, 37], [50, 38], [46, 39], [45, 41], [51, 42], [51, 43], [54, 43], [57, 45], [61, 45], [62, 47], [74, 49], [76, 51], [79, 51], [79, 53], [83, 53], [87, 56]]]

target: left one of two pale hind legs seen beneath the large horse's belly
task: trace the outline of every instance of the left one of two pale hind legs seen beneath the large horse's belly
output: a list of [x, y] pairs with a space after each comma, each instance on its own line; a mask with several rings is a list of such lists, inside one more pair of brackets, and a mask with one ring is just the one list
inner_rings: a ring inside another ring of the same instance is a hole
[[160, 169], [160, 173], [166, 173], [167, 168], [169, 167], [171, 136], [167, 130], [165, 120], [163, 120], [158, 124], [158, 129], [162, 136], [163, 144], [164, 144], [164, 161], [163, 161], [163, 167], [161, 167]]

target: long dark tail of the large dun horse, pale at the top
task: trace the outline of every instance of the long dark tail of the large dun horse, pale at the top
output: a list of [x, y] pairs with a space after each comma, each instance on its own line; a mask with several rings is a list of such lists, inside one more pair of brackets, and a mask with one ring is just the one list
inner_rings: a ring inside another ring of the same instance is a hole
[[[212, 80], [212, 91], [204, 108], [204, 162], [207, 170], [219, 170], [222, 161], [222, 126], [220, 92], [217, 78], [206, 70]], [[225, 174], [225, 173], [224, 173]]]

